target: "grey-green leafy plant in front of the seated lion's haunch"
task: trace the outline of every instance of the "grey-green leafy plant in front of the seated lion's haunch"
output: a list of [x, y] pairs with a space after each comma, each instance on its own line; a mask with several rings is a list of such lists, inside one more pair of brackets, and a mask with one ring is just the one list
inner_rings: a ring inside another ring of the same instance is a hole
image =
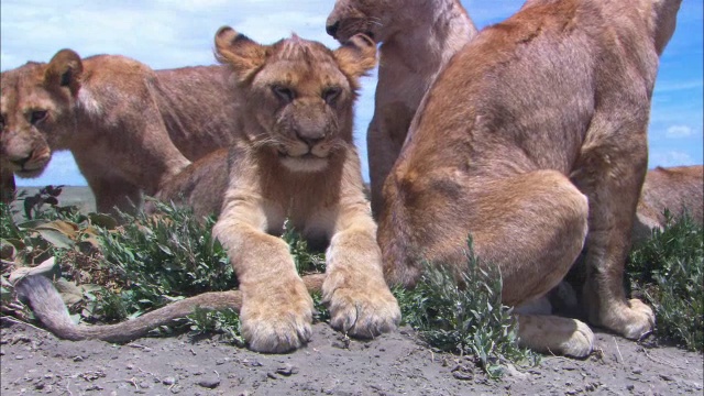
[[502, 361], [537, 364], [538, 355], [517, 344], [517, 324], [502, 305], [498, 268], [480, 264], [471, 239], [465, 256], [459, 279], [450, 268], [426, 263], [414, 289], [394, 288], [404, 321], [431, 346], [473, 355], [491, 377], [502, 375]]

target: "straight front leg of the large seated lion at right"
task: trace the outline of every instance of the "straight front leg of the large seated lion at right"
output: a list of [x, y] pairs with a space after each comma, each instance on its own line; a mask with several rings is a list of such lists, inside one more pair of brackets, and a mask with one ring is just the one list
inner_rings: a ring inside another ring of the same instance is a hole
[[647, 155], [645, 144], [623, 150], [608, 154], [620, 156], [618, 163], [585, 154], [592, 172], [576, 180], [590, 197], [584, 302], [591, 322], [638, 339], [654, 326], [654, 314], [639, 299], [626, 299], [623, 279]]

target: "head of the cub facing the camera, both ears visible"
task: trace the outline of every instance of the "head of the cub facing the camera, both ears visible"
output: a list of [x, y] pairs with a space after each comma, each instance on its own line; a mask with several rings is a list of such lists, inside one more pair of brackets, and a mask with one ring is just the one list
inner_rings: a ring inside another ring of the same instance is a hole
[[298, 36], [260, 45], [229, 28], [216, 37], [218, 58], [232, 66], [243, 92], [243, 116], [254, 145], [294, 172], [320, 172], [352, 144], [358, 78], [375, 64], [364, 36], [337, 51]]

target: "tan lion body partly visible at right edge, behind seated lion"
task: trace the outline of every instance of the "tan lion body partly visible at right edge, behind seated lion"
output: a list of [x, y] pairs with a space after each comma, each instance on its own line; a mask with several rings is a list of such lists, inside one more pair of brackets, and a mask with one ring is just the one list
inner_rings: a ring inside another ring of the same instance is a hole
[[653, 229], [666, 226], [664, 209], [675, 219], [686, 212], [695, 223], [702, 224], [703, 207], [704, 166], [657, 167], [648, 170], [634, 223], [634, 243], [648, 239]]

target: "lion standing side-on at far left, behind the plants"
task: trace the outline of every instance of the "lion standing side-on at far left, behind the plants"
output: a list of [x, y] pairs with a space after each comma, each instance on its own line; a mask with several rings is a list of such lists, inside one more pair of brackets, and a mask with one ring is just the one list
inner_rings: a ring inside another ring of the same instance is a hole
[[[69, 150], [99, 211], [129, 210], [230, 142], [234, 89], [227, 67], [154, 72], [136, 61], [59, 51], [2, 73], [0, 151], [20, 177]], [[4, 172], [4, 166], [3, 166]]]

